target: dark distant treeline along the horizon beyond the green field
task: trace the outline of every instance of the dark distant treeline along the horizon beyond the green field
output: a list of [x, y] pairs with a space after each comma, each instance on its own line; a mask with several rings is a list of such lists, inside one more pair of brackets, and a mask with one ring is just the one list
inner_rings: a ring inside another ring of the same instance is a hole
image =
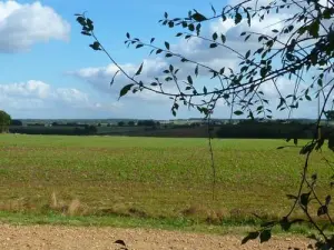
[[[301, 123], [298, 121], [254, 121], [244, 120], [238, 123], [213, 124], [212, 136], [215, 138], [249, 138], [249, 139], [312, 139], [317, 132], [314, 123]], [[331, 126], [322, 127], [322, 137], [328, 138], [334, 131]], [[177, 137], [177, 138], [204, 138], [207, 137], [207, 127], [205, 123], [190, 124], [160, 124], [151, 120], [140, 121], [138, 123], [121, 123], [112, 127], [100, 127], [89, 124], [52, 123], [43, 126], [32, 123], [21, 126], [14, 121], [9, 127], [11, 133], [26, 134], [62, 134], [62, 136], [137, 136], [137, 137]]]

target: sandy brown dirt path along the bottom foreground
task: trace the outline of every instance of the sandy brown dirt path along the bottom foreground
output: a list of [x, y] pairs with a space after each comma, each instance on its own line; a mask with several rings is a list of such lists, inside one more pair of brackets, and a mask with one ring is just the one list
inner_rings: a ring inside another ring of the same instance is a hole
[[117, 249], [115, 240], [125, 240], [131, 250], [277, 250], [306, 249], [311, 242], [292, 237], [274, 238], [265, 244], [240, 246], [242, 237], [207, 236], [146, 229], [76, 228], [56, 226], [0, 224], [0, 249]]

